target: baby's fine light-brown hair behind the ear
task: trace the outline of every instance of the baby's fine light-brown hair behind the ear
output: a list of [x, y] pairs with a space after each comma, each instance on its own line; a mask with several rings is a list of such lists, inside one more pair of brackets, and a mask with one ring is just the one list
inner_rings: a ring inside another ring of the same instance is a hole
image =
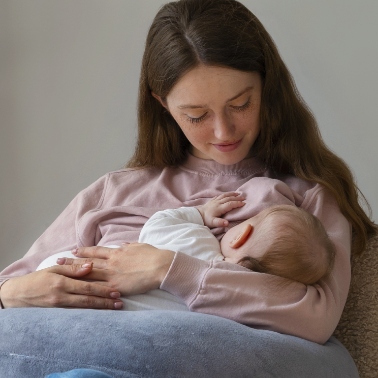
[[[330, 275], [336, 250], [321, 222], [290, 205], [276, 205], [256, 224], [251, 236], [261, 257], [243, 257], [238, 264], [254, 272], [285, 277], [306, 285]], [[249, 247], [251, 247], [251, 244]]]

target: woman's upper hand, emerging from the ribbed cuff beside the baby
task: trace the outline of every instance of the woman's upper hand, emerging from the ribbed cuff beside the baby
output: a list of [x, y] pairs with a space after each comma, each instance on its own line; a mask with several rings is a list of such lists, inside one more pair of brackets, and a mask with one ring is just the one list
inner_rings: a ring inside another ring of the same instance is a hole
[[159, 250], [150, 244], [122, 244], [121, 248], [83, 247], [73, 252], [83, 259], [62, 258], [58, 264], [93, 262], [84, 278], [95, 284], [116, 288], [122, 295], [141, 294], [158, 289], [168, 273], [175, 252]]

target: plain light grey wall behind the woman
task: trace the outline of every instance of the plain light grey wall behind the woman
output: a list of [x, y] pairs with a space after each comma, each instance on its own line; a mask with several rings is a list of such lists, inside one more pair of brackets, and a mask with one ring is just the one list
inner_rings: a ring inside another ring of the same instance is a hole
[[[144, 41], [164, 2], [0, 0], [0, 270], [81, 189], [130, 158]], [[378, 1], [242, 2], [377, 220]]]

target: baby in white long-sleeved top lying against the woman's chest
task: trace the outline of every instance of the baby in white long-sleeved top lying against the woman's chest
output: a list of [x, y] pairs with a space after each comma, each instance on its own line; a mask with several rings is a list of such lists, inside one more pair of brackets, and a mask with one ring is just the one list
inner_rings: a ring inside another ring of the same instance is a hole
[[229, 229], [221, 243], [210, 228], [227, 226], [220, 217], [244, 206], [238, 193], [223, 193], [205, 205], [169, 209], [144, 225], [140, 243], [186, 252], [201, 259], [223, 259], [254, 272], [315, 284], [332, 271], [335, 247], [321, 222], [293, 205], [269, 207]]

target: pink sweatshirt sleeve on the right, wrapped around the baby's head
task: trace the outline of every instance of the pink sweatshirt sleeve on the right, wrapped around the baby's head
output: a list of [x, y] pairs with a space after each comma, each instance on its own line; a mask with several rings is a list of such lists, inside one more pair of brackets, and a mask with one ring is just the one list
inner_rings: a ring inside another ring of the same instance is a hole
[[[333, 275], [314, 285], [278, 285], [277, 277], [223, 261], [177, 252], [160, 288], [190, 311], [218, 315], [324, 344], [336, 328], [350, 283], [351, 226], [335, 198], [320, 187], [302, 206], [323, 223], [336, 247]], [[283, 279], [284, 280], [284, 279]]]

